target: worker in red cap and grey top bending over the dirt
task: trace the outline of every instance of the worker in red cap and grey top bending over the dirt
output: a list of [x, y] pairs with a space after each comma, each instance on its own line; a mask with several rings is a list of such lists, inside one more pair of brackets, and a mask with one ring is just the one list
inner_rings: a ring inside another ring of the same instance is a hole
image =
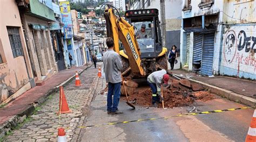
[[163, 99], [161, 96], [161, 84], [168, 84], [169, 75], [166, 74], [166, 70], [162, 69], [151, 73], [147, 76], [147, 83], [152, 90], [152, 104], [157, 108], [157, 103]]

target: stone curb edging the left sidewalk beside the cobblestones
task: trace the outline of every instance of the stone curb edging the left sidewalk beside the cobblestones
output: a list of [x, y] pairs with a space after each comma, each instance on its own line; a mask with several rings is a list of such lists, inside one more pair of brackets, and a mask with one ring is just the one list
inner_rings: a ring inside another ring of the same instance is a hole
[[[92, 66], [89, 65], [87, 66], [85, 69], [80, 70], [80, 72], [78, 72], [78, 74], [82, 74], [85, 70], [87, 70], [88, 68], [90, 68]], [[32, 112], [35, 110], [36, 106], [44, 103], [47, 100], [47, 97], [49, 95], [51, 95], [52, 93], [55, 93], [59, 90], [60, 86], [66, 86], [66, 84], [68, 84], [69, 82], [72, 81], [72, 79], [75, 78], [76, 75], [71, 76], [69, 79], [67, 79], [66, 81], [58, 84], [56, 87], [52, 88], [51, 90], [49, 90], [46, 94], [44, 94], [43, 96], [41, 96], [37, 101], [34, 102], [34, 104], [30, 104], [28, 106], [28, 108], [26, 108], [24, 111], [19, 112], [17, 115], [12, 116], [8, 121], [6, 121], [5, 123], [3, 123], [0, 126], [0, 138], [4, 137], [5, 134], [12, 130], [14, 127], [16, 127], [19, 123], [24, 122], [25, 118], [30, 116], [32, 114]]]

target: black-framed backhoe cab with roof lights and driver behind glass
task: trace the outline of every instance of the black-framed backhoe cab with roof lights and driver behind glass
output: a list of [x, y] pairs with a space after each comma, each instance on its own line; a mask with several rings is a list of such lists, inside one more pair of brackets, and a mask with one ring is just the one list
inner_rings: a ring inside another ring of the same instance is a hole
[[[140, 58], [155, 58], [163, 51], [157, 9], [128, 10], [126, 20], [134, 26], [140, 48]], [[139, 37], [142, 25], [145, 25], [145, 36]]]

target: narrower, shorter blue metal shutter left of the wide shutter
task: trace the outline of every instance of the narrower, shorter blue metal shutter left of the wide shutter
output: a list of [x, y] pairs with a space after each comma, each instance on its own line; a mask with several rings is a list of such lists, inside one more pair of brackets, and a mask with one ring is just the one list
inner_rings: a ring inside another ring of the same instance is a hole
[[203, 34], [194, 33], [193, 63], [201, 62], [203, 47]]

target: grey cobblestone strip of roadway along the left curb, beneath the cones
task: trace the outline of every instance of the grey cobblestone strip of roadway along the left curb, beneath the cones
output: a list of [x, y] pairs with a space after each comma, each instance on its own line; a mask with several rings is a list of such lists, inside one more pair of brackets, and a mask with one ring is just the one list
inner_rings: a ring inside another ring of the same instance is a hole
[[[97, 69], [88, 68], [79, 78], [83, 86], [75, 87], [75, 80], [72, 80], [64, 87], [66, 100], [72, 113], [57, 115], [59, 105], [59, 91], [48, 97], [48, 100], [36, 108], [36, 112], [24, 125], [18, 127], [4, 141], [57, 141], [57, 127], [64, 127], [68, 141], [76, 141], [80, 129], [86, 117], [88, 105], [95, 93], [98, 80]], [[59, 124], [59, 125], [58, 125]]]

